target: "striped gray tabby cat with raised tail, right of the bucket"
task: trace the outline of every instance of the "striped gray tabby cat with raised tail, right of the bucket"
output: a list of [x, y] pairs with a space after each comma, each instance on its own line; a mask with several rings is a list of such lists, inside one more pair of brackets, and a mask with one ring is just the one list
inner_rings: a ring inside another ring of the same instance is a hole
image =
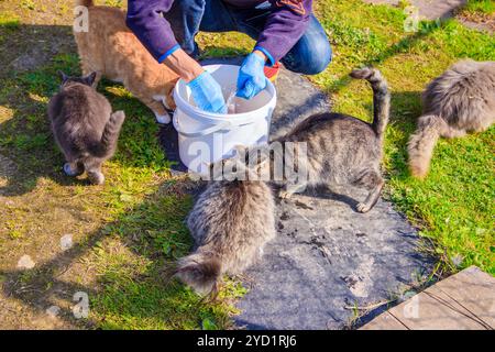
[[366, 199], [358, 204], [358, 211], [370, 211], [378, 200], [384, 185], [381, 161], [391, 96], [386, 80], [375, 68], [353, 70], [351, 77], [366, 79], [373, 88], [373, 122], [370, 124], [342, 113], [321, 113], [309, 117], [275, 140], [283, 145], [286, 142], [307, 143], [304, 165], [307, 182], [297, 186], [284, 182], [282, 197], [290, 197], [306, 186], [352, 185], [370, 191]]

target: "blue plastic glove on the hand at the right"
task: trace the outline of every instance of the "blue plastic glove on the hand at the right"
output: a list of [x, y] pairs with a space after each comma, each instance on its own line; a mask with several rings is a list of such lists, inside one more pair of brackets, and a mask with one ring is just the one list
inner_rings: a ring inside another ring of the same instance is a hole
[[244, 58], [238, 77], [238, 97], [251, 99], [266, 88], [263, 57], [251, 53]]

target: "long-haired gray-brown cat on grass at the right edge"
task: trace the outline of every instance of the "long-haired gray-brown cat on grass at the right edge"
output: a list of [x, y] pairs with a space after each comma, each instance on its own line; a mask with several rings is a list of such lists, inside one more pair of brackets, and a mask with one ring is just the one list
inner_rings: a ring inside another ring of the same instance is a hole
[[422, 101], [422, 116], [407, 146], [410, 173], [418, 178], [428, 174], [439, 136], [459, 138], [494, 123], [495, 62], [452, 65], [428, 85]]

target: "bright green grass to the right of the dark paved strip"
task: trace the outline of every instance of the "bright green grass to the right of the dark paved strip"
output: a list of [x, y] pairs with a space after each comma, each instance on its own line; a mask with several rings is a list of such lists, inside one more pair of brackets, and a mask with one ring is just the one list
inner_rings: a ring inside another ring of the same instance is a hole
[[419, 95], [425, 85], [460, 58], [493, 59], [494, 37], [455, 20], [424, 22], [418, 33], [405, 33], [402, 11], [361, 1], [322, 1], [318, 12], [337, 56], [327, 72], [311, 79], [328, 90], [334, 110], [365, 120], [371, 117], [369, 88], [346, 77], [355, 66], [377, 66], [392, 87], [385, 145], [389, 198], [432, 240], [444, 271], [474, 264], [495, 274], [495, 128], [461, 140], [441, 140], [422, 183], [409, 177], [406, 167], [406, 142], [421, 112]]

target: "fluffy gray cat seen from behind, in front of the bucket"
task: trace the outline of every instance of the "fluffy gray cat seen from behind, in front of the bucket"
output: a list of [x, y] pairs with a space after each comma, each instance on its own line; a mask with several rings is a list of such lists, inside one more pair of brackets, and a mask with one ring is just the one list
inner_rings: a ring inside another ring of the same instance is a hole
[[176, 276], [199, 294], [217, 290], [222, 274], [241, 273], [275, 237], [272, 189], [263, 182], [210, 182], [187, 219], [195, 252]]

